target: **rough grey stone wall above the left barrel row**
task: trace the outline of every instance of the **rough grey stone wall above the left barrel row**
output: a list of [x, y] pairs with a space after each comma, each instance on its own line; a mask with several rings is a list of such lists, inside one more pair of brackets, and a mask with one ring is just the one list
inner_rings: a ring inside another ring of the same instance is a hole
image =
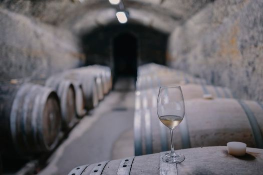
[[0, 8], [0, 80], [46, 77], [84, 63], [71, 32]]

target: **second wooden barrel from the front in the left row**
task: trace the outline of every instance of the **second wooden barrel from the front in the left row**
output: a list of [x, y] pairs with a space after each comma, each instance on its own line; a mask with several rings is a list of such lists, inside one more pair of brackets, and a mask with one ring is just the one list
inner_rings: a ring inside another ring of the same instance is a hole
[[51, 76], [46, 86], [53, 88], [59, 95], [62, 113], [62, 129], [67, 131], [76, 124], [76, 95], [73, 83], [61, 76]]

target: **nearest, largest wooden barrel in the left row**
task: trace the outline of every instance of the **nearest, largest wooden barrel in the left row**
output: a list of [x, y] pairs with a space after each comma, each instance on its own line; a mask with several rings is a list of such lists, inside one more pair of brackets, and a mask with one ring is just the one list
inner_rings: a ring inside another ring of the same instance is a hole
[[27, 156], [52, 150], [61, 131], [57, 93], [31, 83], [2, 84], [0, 88], [2, 153], [9, 155], [15, 149]]

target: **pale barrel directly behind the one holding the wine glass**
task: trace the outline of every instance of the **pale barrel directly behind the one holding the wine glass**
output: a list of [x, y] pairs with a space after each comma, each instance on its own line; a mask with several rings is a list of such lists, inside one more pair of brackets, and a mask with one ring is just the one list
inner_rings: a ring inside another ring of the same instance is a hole
[[[185, 101], [185, 116], [175, 128], [176, 149], [245, 142], [263, 148], [263, 105], [233, 98]], [[169, 129], [160, 122], [156, 107], [136, 110], [134, 114], [135, 155], [168, 150]]]

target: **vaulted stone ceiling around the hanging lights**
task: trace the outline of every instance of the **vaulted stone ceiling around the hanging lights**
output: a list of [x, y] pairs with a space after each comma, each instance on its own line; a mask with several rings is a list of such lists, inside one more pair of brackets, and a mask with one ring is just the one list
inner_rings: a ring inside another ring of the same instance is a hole
[[[213, 0], [123, 0], [129, 22], [171, 32]], [[0, 6], [43, 22], [70, 28], [75, 33], [117, 22], [117, 5], [108, 0], [2, 0]]]

